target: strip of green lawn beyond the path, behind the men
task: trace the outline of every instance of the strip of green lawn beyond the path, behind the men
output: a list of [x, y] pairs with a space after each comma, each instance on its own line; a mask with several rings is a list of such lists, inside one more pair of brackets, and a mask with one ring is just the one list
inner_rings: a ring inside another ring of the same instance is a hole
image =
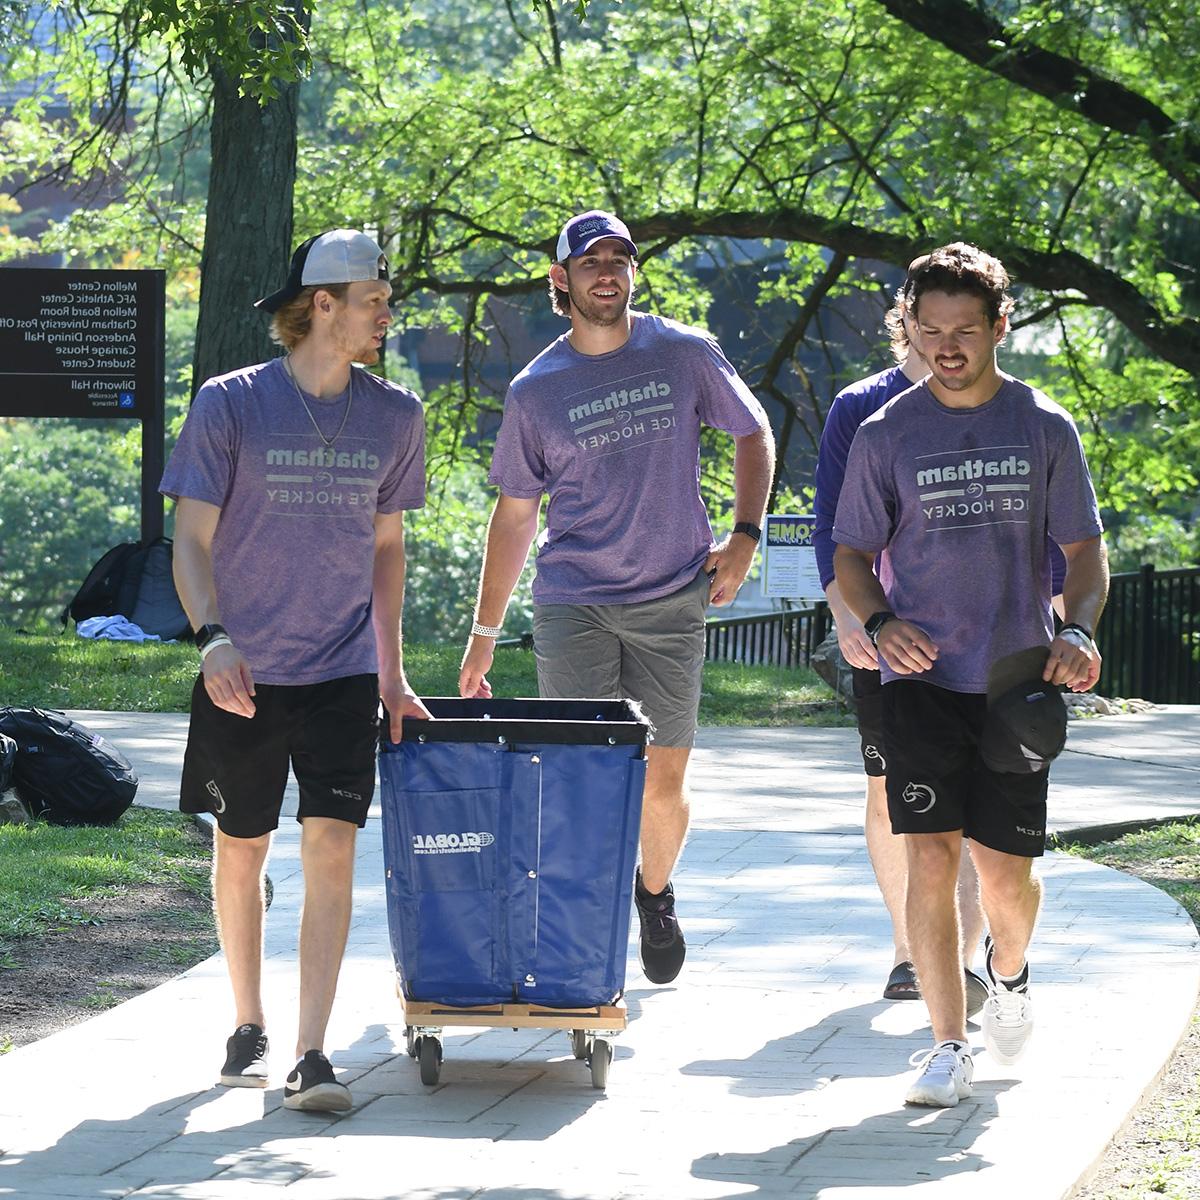
[[[460, 646], [408, 646], [404, 667], [425, 696], [458, 694]], [[0, 704], [181, 713], [196, 679], [191, 646], [97, 642], [73, 634], [0, 629]], [[498, 696], [536, 696], [532, 652], [499, 649], [488, 678]], [[850, 725], [833, 692], [808, 668], [704, 667], [701, 725]]]

